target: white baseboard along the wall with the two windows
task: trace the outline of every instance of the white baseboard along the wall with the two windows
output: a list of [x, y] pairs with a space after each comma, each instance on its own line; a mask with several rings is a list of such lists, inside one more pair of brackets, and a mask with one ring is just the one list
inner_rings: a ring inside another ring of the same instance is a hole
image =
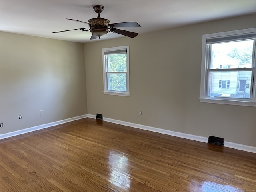
[[[95, 115], [90, 115], [90, 114], [88, 114], [88, 117], [96, 118]], [[125, 122], [125, 121], [120, 121], [120, 120], [115, 120], [115, 119], [110, 119], [110, 118], [104, 118], [104, 117], [103, 117], [103, 121], [116, 123], [116, 124], [120, 124], [120, 125], [125, 125], [125, 126], [130, 126], [130, 127], [134, 127], [134, 128], [138, 128], [138, 129], [153, 131], [153, 132], [162, 133], [162, 134], [166, 134], [166, 135], [176, 136], [176, 137], [180, 137], [180, 138], [185, 138], [185, 139], [190, 139], [190, 140], [195, 140], [195, 141], [200, 141], [200, 142], [205, 142], [205, 143], [208, 142], [207, 137], [191, 135], [191, 134], [186, 134], [186, 133], [180, 133], [180, 132], [160, 129], [160, 128], [156, 128], [156, 127], [150, 127], [150, 126]], [[234, 149], [238, 149], [238, 150], [256, 153], [256, 147], [232, 143], [232, 142], [224, 141], [224, 147], [229, 147], [229, 148], [234, 148]]]

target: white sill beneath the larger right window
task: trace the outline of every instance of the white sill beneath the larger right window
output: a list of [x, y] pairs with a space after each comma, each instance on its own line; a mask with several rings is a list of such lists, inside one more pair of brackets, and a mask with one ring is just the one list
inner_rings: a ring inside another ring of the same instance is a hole
[[256, 107], [256, 102], [252, 102], [252, 101], [220, 100], [220, 99], [210, 99], [210, 98], [199, 98], [199, 99], [200, 99], [200, 102], [203, 102], [203, 103], [216, 103], [216, 104]]

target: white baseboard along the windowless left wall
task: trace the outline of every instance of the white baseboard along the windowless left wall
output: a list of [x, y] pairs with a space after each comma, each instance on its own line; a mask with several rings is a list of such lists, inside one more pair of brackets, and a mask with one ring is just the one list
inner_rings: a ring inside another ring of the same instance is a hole
[[8, 138], [8, 137], [13, 137], [13, 136], [16, 136], [16, 135], [21, 135], [21, 134], [24, 134], [24, 133], [29, 133], [29, 132], [33, 132], [33, 131], [36, 131], [36, 130], [45, 129], [45, 128], [48, 128], [48, 127], [64, 124], [64, 123], [67, 123], [67, 122], [79, 120], [79, 119], [86, 118], [86, 117], [88, 117], [88, 114], [77, 116], [77, 117], [72, 117], [72, 118], [68, 118], [68, 119], [64, 119], [64, 120], [60, 120], [60, 121], [56, 121], [56, 122], [52, 122], [52, 123], [47, 123], [47, 124], [43, 124], [43, 125], [38, 125], [38, 126], [18, 130], [18, 131], [13, 131], [13, 132], [9, 132], [9, 133], [0, 134], [0, 140]]

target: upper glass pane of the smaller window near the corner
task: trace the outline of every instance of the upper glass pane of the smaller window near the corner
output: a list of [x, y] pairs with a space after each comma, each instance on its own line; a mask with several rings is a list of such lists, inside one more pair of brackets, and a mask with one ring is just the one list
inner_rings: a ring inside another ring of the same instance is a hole
[[111, 54], [108, 56], [108, 72], [126, 72], [126, 54]]

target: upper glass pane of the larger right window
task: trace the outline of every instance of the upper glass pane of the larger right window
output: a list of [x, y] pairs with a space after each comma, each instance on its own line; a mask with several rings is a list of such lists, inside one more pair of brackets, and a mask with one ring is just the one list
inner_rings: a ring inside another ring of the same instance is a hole
[[254, 40], [224, 42], [208, 45], [210, 69], [252, 68]]

